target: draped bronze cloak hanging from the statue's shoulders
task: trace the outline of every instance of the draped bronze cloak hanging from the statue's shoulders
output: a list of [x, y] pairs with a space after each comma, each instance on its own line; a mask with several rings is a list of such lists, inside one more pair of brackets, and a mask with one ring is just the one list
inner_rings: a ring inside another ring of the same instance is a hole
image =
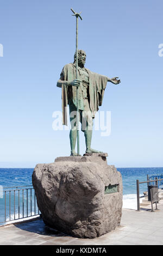
[[[98, 107], [102, 105], [104, 90], [106, 88], [106, 83], [108, 78], [103, 75], [91, 72], [86, 69], [89, 74], [89, 104], [92, 113], [92, 118], [95, 118], [95, 114], [98, 111]], [[80, 80], [80, 69], [78, 69], [78, 79]], [[62, 81], [72, 81], [76, 79], [76, 65], [73, 63], [66, 64], [62, 69], [60, 80]], [[73, 102], [77, 107], [77, 88], [76, 86], [66, 86], [64, 83], [61, 85], [62, 88], [62, 123], [67, 125], [67, 105]], [[83, 97], [82, 97], [82, 84], [80, 84], [79, 89], [78, 106], [79, 109], [84, 110]]]

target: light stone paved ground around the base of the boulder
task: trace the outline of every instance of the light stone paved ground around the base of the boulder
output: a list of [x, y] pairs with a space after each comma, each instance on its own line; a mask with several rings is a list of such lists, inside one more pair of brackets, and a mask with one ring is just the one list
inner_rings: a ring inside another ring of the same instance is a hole
[[163, 245], [163, 204], [158, 208], [155, 212], [123, 209], [121, 227], [96, 239], [67, 236], [40, 219], [5, 225], [0, 227], [0, 245]]

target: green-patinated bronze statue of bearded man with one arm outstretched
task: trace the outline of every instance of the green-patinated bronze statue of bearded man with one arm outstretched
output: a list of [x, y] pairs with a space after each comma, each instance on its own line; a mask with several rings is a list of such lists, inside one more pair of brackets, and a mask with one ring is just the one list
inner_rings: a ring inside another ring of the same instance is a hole
[[98, 107], [102, 105], [104, 90], [106, 83], [111, 82], [119, 84], [121, 81], [118, 77], [109, 78], [99, 75], [84, 67], [86, 53], [78, 50], [78, 80], [76, 79], [76, 53], [74, 54], [74, 62], [67, 64], [61, 71], [60, 79], [57, 87], [62, 88], [62, 117], [63, 125], [67, 125], [66, 107], [70, 109], [70, 144], [71, 156], [77, 156], [75, 151], [77, 141], [77, 125], [73, 123], [74, 113], [77, 113], [77, 90], [79, 88], [78, 106], [79, 121], [82, 123], [82, 131], [85, 136], [86, 153], [101, 153], [101, 151], [91, 148], [93, 118], [98, 111]]

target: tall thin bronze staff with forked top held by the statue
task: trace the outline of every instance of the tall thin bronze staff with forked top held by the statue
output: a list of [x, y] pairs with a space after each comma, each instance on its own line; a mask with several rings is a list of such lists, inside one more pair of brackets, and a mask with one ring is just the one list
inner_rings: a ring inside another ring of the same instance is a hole
[[[80, 16], [80, 13], [76, 13], [76, 11], [74, 11], [71, 8], [72, 12], [74, 14], [72, 14], [72, 16], [76, 16], [76, 79], [78, 80], [78, 17], [80, 17], [80, 19], [82, 20], [82, 17]], [[79, 106], [78, 106], [78, 97], [79, 97], [79, 91], [78, 91], [78, 87], [77, 87], [77, 148], [78, 148], [78, 156], [79, 154]]]

